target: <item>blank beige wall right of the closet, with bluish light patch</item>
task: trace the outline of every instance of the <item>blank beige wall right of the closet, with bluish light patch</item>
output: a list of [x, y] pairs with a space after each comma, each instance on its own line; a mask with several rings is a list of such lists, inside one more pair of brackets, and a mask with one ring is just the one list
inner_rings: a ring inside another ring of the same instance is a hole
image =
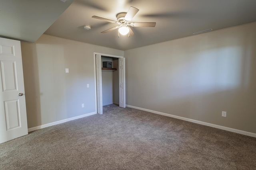
[[126, 104], [256, 133], [255, 30], [251, 23], [124, 51]]

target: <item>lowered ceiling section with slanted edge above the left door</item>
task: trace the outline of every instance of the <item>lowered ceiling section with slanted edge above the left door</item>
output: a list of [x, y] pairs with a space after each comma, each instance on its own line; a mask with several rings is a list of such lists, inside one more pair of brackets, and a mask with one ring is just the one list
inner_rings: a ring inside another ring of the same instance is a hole
[[74, 0], [0, 0], [0, 37], [34, 43]]

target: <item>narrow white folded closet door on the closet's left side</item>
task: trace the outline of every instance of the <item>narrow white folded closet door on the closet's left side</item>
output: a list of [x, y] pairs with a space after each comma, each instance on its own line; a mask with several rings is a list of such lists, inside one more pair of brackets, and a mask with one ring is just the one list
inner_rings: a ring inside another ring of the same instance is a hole
[[97, 113], [102, 114], [101, 55], [96, 54], [95, 58], [96, 58]]

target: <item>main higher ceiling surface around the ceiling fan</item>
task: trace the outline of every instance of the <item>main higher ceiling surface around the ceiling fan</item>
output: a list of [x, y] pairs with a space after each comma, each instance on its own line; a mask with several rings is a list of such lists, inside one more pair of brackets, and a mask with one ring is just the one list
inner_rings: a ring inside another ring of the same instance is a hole
[[[118, 38], [118, 29], [100, 33], [117, 24], [92, 16], [116, 20], [116, 14], [130, 6], [140, 10], [132, 22], [156, 22], [156, 27], [132, 27], [133, 37]], [[254, 22], [255, 9], [256, 0], [76, 0], [45, 34], [127, 50]], [[92, 29], [85, 30], [86, 24]]]

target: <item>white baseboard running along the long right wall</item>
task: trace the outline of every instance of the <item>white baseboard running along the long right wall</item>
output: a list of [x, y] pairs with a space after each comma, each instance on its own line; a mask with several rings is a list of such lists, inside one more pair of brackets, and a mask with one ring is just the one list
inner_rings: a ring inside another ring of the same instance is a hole
[[184, 121], [189, 121], [189, 122], [197, 123], [197, 124], [200, 124], [200, 125], [206, 125], [206, 126], [210, 126], [210, 127], [215, 127], [217, 129], [222, 129], [222, 130], [225, 130], [225, 131], [239, 133], [239, 134], [247, 135], [247, 136], [250, 136], [250, 137], [256, 137], [256, 133], [241, 131], [241, 130], [233, 129], [233, 128], [230, 128], [230, 127], [224, 127], [224, 126], [215, 125], [215, 124], [212, 124], [212, 123], [206, 123], [206, 122], [203, 122], [203, 121], [198, 121], [198, 120], [194, 120], [194, 119], [188, 119], [188, 118], [185, 118], [185, 117], [180, 117], [180, 116], [176, 116], [176, 115], [162, 113], [162, 112], [159, 112], [159, 111], [144, 109], [144, 108], [141, 108], [141, 107], [130, 106], [130, 105], [126, 105], [126, 107], [131, 107], [131, 108], [134, 108], [134, 109], [148, 111], [148, 112], [151, 112], [151, 113], [156, 113], [158, 115], [164, 115], [164, 116], [168, 116], [168, 117], [173, 117], [173, 118], [176, 118], [176, 119], [181, 119], [181, 120], [184, 120]]

